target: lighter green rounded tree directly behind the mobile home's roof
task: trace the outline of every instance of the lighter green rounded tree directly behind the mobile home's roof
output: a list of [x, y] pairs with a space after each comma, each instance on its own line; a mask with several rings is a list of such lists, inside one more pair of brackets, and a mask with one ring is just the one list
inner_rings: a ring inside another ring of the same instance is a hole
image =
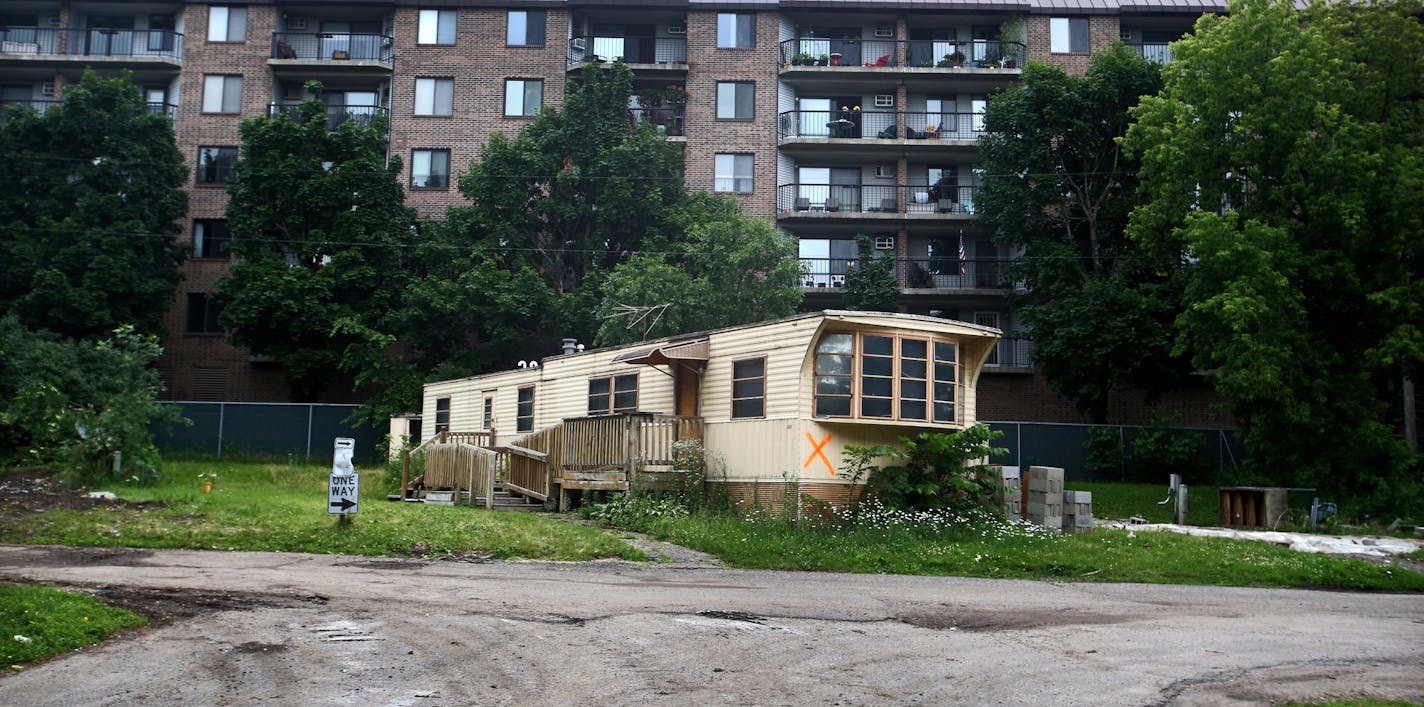
[[[796, 244], [736, 200], [699, 192], [669, 211], [671, 241], [618, 265], [602, 282], [597, 344], [790, 316], [800, 304]], [[642, 312], [651, 306], [666, 308]], [[625, 308], [637, 308], [629, 311]]]

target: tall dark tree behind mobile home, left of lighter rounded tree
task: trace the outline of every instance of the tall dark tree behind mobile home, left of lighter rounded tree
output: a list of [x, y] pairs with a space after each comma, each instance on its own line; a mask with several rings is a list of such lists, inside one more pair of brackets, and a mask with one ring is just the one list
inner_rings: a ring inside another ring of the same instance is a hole
[[686, 198], [682, 150], [651, 127], [632, 131], [632, 73], [622, 61], [590, 66], [562, 107], [547, 107], [518, 135], [496, 133], [460, 178], [471, 205], [451, 210], [466, 245], [507, 269], [528, 267], [553, 292], [557, 318], [530, 348], [592, 338], [602, 277], [666, 232]]

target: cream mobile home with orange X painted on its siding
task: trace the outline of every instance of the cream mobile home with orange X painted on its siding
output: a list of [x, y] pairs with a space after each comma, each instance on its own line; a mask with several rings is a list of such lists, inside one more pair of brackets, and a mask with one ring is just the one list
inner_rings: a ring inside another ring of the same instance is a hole
[[[998, 338], [933, 316], [812, 312], [429, 383], [422, 419], [427, 435], [478, 433], [493, 449], [545, 460], [547, 449], [525, 442], [565, 423], [672, 420], [659, 429], [699, 436], [725, 465], [711, 480], [732, 496], [790, 482], [837, 503], [849, 490], [836, 473], [846, 445], [975, 423], [975, 383]], [[572, 450], [562, 453], [572, 468]], [[550, 475], [553, 487], [617, 487]]]

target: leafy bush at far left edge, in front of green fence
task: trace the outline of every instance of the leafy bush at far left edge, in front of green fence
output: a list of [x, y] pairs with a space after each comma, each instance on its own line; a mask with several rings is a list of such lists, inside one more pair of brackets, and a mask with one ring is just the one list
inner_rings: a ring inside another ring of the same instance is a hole
[[0, 458], [64, 463], [80, 483], [110, 476], [115, 452], [125, 475], [158, 465], [150, 426], [185, 422], [159, 405], [158, 339], [120, 326], [97, 342], [26, 329], [0, 319]]

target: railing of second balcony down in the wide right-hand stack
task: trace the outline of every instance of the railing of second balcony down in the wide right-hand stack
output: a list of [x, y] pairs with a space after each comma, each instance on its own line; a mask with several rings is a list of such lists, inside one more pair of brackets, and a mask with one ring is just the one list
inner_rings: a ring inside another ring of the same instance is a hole
[[984, 114], [790, 110], [780, 114], [776, 133], [782, 140], [803, 137], [847, 140], [978, 140], [984, 134]]

